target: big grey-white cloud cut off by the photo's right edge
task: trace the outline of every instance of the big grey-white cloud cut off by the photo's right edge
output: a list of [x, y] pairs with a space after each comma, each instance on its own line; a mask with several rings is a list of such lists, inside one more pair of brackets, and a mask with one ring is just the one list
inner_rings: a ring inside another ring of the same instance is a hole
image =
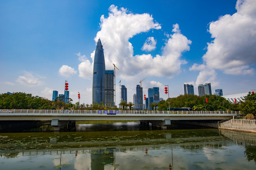
[[219, 17], [211, 22], [209, 33], [214, 40], [208, 43], [203, 60], [207, 67], [226, 74], [251, 75], [256, 63], [256, 1], [237, 0], [237, 13]]

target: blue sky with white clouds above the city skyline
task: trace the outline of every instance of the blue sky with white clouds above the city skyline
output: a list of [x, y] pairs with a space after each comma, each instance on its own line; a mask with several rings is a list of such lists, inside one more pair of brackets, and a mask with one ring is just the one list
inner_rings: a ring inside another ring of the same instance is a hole
[[106, 69], [116, 70], [128, 102], [140, 80], [143, 93], [160, 87], [167, 99], [183, 84], [212, 84], [224, 95], [256, 89], [255, 0], [0, 0], [0, 93], [52, 99], [52, 91], [92, 103], [92, 66], [98, 38]]

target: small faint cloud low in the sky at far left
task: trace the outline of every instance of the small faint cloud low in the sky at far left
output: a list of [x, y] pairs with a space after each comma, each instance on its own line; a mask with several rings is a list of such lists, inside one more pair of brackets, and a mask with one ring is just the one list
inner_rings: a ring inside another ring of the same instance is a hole
[[19, 78], [16, 80], [22, 85], [26, 86], [38, 86], [42, 85], [42, 81], [39, 80], [39, 78], [42, 78], [41, 76], [38, 75], [33, 75], [32, 73], [25, 72], [23, 76], [19, 76]]

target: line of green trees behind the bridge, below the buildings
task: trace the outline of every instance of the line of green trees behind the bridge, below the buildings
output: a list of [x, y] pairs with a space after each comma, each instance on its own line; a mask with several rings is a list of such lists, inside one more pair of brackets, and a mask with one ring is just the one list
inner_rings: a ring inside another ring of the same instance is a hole
[[[32, 96], [29, 93], [3, 93], [0, 94], [0, 109], [63, 109], [64, 98], [57, 97], [55, 101], [50, 101], [39, 96]], [[206, 99], [208, 102], [206, 102]], [[117, 106], [106, 108], [104, 103], [80, 104], [72, 103], [68, 99], [65, 103], [65, 109], [82, 109], [82, 110], [117, 110]], [[197, 96], [193, 94], [180, 95], [178, 97], [162, 100], [158, 103], [151, 103], [152, 110], [167, 110], [169, 108], [191, 108], [192, 110], [223, 110], [223, 111], [241, 111], [243, 114], [256, 113], [256, 94], [249, 92], [245, 96], [244, 102], [230, 103], [224, 97], [217, 95]], [[128, 107], [132, 110], [133, 102], [121, 101], [119, 104], [123, 110]]]

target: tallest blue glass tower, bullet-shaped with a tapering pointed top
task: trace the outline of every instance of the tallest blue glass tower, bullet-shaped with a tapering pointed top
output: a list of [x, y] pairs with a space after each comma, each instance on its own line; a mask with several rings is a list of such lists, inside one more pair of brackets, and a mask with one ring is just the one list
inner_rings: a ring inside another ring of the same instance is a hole
[[105, 59], [103, 46], [98, 39], [95, 56], [94, 56], [94, 72], [93, 72], [93, 103], [105, 103]]

